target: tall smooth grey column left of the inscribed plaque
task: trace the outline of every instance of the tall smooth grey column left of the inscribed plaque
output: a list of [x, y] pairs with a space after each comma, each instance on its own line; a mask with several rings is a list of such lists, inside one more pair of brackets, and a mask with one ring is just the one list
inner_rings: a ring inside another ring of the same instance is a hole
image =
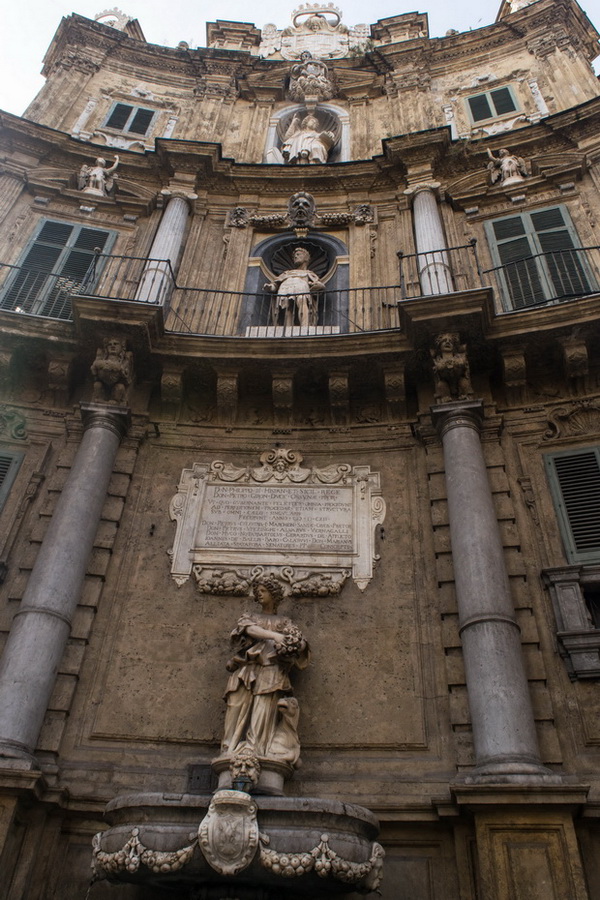
[[[34, 762], [121, 438], [122, 407], [82, 404], [84, 434], [0, 661], [0, 757]], [[1, 765], [1, 763], [0, 763]]]

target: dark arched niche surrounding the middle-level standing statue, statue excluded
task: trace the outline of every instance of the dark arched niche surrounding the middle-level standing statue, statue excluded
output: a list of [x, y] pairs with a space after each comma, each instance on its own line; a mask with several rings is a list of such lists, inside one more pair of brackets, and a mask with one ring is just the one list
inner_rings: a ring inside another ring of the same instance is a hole
[[[244, 285], [244, 302], [240, 316], [240, 333], [252, 336], [258, 326], [272, 324], [274, 294], [264, 285], [274, 277], [294, 268], [292, 253], [304, 247], [310, 253], [309, 268], [319, 276], [326, 290], [318, 295], [317, 325], [311, 334], [337, 334], [348, 331], [348, 248], [331, 235], [309, 232], [297, 238], [292, 231], [260, 241], [251, 252]], [[305, 331], [302, 333], [306, 333]]]

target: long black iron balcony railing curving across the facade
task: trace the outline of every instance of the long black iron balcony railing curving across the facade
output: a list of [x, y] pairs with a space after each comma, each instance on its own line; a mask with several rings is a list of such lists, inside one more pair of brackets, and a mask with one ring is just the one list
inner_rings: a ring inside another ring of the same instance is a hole
[[[492, 288], [505, 312], [598, 292], [600, 247], [540, 253], [482, 269], [477, 244], [398, 253], [399, 283], [291, 297], [179, 284], [167, 260], [97, 253], [84, 277], [0, 264], [0, 311], [70, 321], [74, 296], [160, 306], [171, 333], [242, 338], [319, 337], [394, 330], [416, 298]], [[310, 311], [307, 314], [306, 303]], [[304, 304], [304, 309], [301, 308]]]

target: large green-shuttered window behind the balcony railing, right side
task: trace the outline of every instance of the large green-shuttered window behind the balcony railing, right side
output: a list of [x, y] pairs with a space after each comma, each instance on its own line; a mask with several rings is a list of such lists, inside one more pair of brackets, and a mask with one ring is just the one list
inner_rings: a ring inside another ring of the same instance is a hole
[[494, 272], [513, 309], [592, 293], [585, 251], [560, 206], [485, 223]]

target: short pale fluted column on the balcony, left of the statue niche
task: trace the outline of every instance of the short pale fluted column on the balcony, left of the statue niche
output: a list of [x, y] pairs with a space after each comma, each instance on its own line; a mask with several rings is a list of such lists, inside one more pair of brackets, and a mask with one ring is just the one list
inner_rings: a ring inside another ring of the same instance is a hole
[[161, 193], [169, 198], [167, 208], [152, 242], [135, 299], [142, 303], [165, 305], [173, 287], [171, 272], [175, 272], [183, 245], [190, 203], [197, 199], [197, 195], [172, 195], [170, 191]]

